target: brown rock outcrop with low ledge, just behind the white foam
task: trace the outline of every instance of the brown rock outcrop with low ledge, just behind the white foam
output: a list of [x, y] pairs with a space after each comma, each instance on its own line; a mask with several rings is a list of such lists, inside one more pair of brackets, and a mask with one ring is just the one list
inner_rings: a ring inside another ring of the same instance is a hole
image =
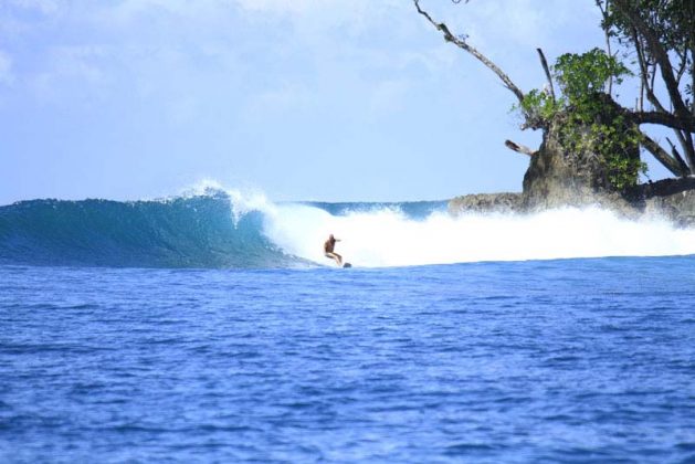
[[[620, 106], [608, 95], [598, 98], [606, 108], [599, 122], [617, 120]], [[618, 191], [610, 181], [610, 164], [593, 151], [594, 139], [589, 131], [578, 133], [583, 140], [580, 144], [567, 141], [567, 118], [568, 114], [557, 115], [544, 131], [540, 148], [530, 157], [520, 193], [457, 197], [449, 203], [450, 213], [529, 213], [566, 207], [600, 207], [628, 219], [659, 215], [680, 226], [695, 226], [695, 177], [665, 179]], [[631, 126], [620, 123], [618, 130], [626, 133]], [[639, 147], [628, 144], [618, 155], [636, 161]], [[634, 176], [636, 178], [636, 171]]]

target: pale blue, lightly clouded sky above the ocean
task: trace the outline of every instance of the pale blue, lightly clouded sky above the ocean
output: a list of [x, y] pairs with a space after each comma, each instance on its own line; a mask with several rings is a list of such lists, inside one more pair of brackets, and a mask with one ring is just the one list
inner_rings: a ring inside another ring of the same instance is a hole
[[[422, 0], [524, 91], [593, 0]], [[201, 182], [275, 201], [520, 191], [514, 95], [411, 0], [0, 0], [0, 204]], [[659, 177], [660, 168], [654, 166]]]

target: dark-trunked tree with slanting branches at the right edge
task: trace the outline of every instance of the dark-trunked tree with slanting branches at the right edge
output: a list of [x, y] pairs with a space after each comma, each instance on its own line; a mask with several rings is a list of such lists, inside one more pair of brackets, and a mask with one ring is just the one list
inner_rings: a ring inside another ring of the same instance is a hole
[[[641, 98], [633, 119], [670, 127], [682, 151], [670, 139], [671, 154], [649, 138], [644, 148], [674, 175], [695, 173], [695, 0], [597, 0], [597, 6], [607, 38], [617, 38], [639, 67]], [[659, 88], [665, 88], [666, 104]]]

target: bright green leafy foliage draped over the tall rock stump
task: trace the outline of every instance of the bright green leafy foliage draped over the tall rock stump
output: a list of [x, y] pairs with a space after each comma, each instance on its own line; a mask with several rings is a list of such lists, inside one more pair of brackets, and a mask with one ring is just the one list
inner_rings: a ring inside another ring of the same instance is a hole
[[[646, 165], [634, 156], [641, 139], [636, 126], [615, 112], [606, 95], [610, 78], [617, 84], [630, 71], [615, 57], [600, 49], [587, 53], [566, 53], [552, 67], [561, 95], [552, 99], [549, 93], [533, 89], [516, 109], [530, 122], [544, 122], [546, 127], [557, 115], [564, 146], [578, 158], [598, 158], [606, 178], [617, 190], [625, 190], [638, 182]], [[577, 159], [581, 164], [587, 159]]]

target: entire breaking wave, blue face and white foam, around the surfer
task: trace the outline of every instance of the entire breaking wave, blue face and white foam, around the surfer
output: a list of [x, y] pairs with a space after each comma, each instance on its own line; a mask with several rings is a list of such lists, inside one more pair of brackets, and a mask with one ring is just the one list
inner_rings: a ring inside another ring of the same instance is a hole
[[695, 254], [695, 230], [600, 209], [453, 218], [444, 201], [273, 203], [206, 189], [151, 201], [32, 200], [0, 207], [0, 263], [271, 268]]

